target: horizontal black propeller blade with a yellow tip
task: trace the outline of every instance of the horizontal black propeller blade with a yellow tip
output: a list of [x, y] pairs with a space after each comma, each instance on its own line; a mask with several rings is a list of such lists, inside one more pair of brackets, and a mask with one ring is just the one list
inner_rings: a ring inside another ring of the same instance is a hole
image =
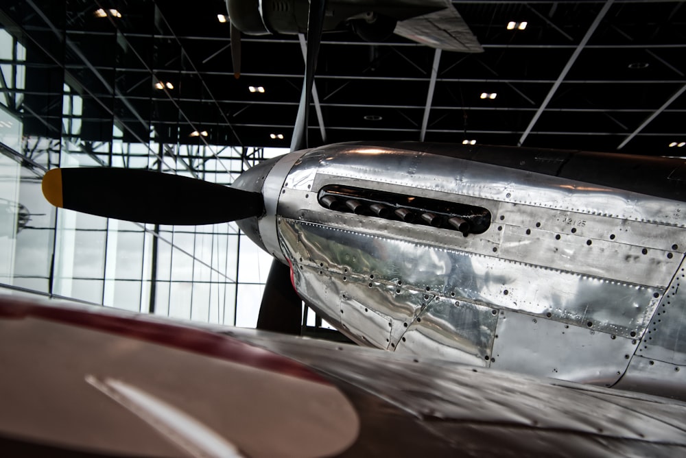
[[260, 193], [168, 173], [107, 167], [52, 169], [43, 195], [54, 206], [151, 224], [214, 224], [263, 213]]

